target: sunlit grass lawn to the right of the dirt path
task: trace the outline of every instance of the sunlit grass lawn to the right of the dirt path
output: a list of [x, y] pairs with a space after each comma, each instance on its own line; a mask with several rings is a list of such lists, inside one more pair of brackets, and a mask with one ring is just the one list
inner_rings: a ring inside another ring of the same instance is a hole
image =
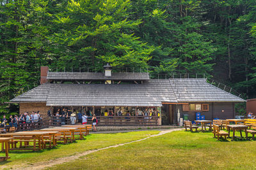
[[51, 169], [256, 169], [256, 141], [217, 141], [212, 137], [211, 132], [175, 131], [101, 150]]

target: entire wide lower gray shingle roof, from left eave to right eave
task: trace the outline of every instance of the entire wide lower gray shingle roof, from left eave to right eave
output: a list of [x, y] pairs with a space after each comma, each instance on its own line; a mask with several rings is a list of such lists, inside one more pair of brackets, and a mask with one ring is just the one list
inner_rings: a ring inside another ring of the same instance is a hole
[[45, 83], [12, 102], [46, 102], [47, 106], [162, 106], [178, 102], [244, 102], [205, 79], [148, 80], [143, 84]]

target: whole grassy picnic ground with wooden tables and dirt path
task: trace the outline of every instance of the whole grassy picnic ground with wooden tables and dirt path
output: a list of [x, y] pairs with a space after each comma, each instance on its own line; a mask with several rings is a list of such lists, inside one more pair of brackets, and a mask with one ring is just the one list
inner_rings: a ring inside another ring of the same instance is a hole
[[[0, 134], [0, 139], [10, 140], [9, 159], [0, 165], [6, 169], [256, 168], [256, 141], [251, 133], [255, 120], [205, 120], [190, 125], [185, 121], [186, 128], [116, 133], [92, 133], [91, 125], [9, 132]], [[6, 146], [0, 157], [5, 156]]]

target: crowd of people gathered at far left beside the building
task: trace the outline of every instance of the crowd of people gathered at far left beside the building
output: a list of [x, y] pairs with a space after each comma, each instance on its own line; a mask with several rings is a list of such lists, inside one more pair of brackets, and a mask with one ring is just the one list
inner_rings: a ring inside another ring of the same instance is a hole
[[3, 115], [3, 118], [0, 118], [0, 127], [18, 127], [19, 124], [31, 124], [33, 122], [39, 122], [42, 119], [40, 111], [33, 111], [32, 113], [22, 113], [18, 115], [10, 115], [9, 118], [6, 118], [6, 115]]

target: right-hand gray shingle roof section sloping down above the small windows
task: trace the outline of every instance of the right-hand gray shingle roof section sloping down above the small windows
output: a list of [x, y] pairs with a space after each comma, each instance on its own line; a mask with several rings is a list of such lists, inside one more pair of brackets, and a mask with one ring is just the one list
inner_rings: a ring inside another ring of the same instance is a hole
[[170, 79], [179, 102], [244, 102], [224, 90], [207, 83], [205, 78]]

